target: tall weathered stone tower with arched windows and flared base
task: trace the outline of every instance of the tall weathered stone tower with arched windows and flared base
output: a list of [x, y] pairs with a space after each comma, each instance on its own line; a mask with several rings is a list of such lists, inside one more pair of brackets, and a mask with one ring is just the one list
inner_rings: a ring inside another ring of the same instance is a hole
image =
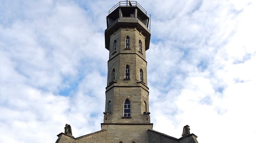
[[194, 134], [177, 139], [153, 130], [146, 61], [149, 18], [135, 4], [119, 5], [107, 16], [109, 60], [102, 130], [78, 138], [60, 133], [56, 143], [197, 143]]

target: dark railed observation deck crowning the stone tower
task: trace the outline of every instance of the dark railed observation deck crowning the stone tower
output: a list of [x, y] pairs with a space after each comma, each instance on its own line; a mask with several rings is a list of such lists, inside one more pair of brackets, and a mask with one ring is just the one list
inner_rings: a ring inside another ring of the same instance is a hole
[[120, 1], [109, 10], [105, 30], [105, 48], [109, 50], [110, 35], [120, 27], [136, 27], [145, 38], [145, 48], [149, 49], [150, 30], [147, 11], [137, 1]]

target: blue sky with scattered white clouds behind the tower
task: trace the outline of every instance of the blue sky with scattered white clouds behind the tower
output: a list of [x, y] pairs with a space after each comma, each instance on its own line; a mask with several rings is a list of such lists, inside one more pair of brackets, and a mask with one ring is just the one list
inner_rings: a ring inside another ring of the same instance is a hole
[[[256, 136], [256, 1], [138, 0], [153, 129], [199, 143]], [[118, 1], [0, 0], [0, 143], [54, 143], [101, 130], [106, 16]]]

